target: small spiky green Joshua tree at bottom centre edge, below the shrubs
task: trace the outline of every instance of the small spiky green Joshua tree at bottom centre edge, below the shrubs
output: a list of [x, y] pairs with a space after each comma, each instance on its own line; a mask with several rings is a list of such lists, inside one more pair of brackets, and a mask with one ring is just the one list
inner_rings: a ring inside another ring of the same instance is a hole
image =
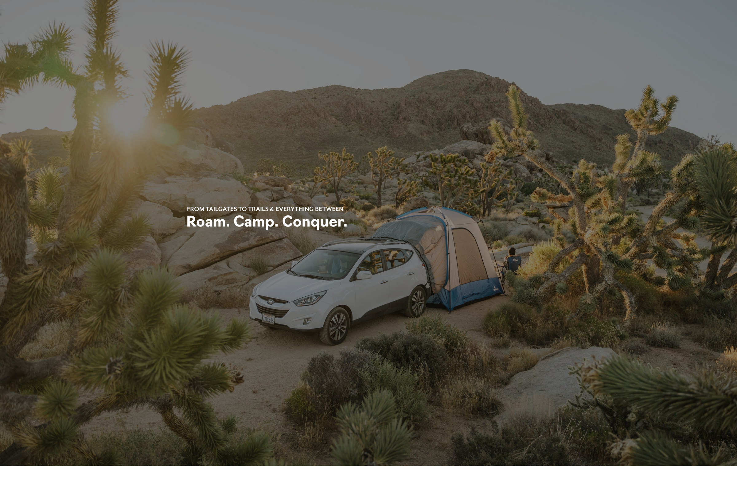
[[367, 395], [360, 409], [344, 404], [335, 420], [343, 434], [333, 440], [332, 456], [340, 465], [387, 465], [409, 455], [412, 430], [397, 417], [391, 392]]

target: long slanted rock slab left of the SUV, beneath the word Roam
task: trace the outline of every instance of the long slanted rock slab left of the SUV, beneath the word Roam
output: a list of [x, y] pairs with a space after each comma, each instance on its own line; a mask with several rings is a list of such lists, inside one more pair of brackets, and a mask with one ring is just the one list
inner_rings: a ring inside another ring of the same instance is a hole
[[[234, 215], [226, 218], [226, 222], [232, 223]], [[278, 241], [286, 236], [287, 234], [279, 228], [270, 230], [261, 227], [198, 228], [194, 235], [172, 254], [167, 266], [174, 275], [184, 275], [222, 261], [238, 252]]]

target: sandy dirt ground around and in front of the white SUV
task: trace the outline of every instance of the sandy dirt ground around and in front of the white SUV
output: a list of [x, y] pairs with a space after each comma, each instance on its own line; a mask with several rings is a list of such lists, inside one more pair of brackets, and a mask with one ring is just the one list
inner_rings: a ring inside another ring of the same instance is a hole
[[[478, 303], [466, 305], [448, 313], [441, 308], [430, 308], [428, 313], [440, 314], [448, 322], [467, 333], [472, 341], [488, 342], [483, 333], [483, 317], [506, 297], [497, 296]], [[225, 323], [232, 317], [248, 317], [247, 309], [217, 309]], [[351, 329], [348, 339], [338, 346], [327, 346], [317, 336], [306, 336], [287, 331], [270, 331], [251, 322], [253, 340], [242, 350], [227, 356], [215, 358], [226, 364], [233, 364], [241, 371], [245, 382], [235, 388], [232, 394], [223, 394], [212, 399], [217, 414], [234, 414], [240, 417], [240, 424], [249, 428], [266, 431], [280, 431], [285, 423], [282, 403], [299, 381], [307, 367], [307, 361], [326, 350], [338, 353], [352, 348], [359, 339], [377, 336], [380, 333], [393, 333], [405, 328], [407, 317], [391, 314], [380, 317]], [[85, 431], [95, 432], [115, 428], [156, 428], [161, 425], [161, 417], [150, 409], [131, 409], [119, 413], [103, 414], [85, 425]]]

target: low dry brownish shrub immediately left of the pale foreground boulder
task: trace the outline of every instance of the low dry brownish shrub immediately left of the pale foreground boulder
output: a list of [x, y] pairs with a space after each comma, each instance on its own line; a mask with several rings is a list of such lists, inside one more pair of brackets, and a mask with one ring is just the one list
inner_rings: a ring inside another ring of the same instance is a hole
[[494, 384], [483, 378], [450, 378], [439, 390], [439, 397], [444, 409], [467, 416], [493, 416], [503, 406]]

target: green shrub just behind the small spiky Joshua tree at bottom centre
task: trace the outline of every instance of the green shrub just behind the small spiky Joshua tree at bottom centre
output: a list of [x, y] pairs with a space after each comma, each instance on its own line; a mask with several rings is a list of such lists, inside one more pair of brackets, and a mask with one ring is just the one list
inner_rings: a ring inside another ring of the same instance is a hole
[[419, 388], [418, 376], [407, 368], [394, 367], [391, 361], [374, 360], [373, 370], [361, 370], [360, 376], [366, 390], [376, 392], [388, 390], [397, 404], [397, 415], [413, 423], [427, 419], [430, 408], [427, 394]]

